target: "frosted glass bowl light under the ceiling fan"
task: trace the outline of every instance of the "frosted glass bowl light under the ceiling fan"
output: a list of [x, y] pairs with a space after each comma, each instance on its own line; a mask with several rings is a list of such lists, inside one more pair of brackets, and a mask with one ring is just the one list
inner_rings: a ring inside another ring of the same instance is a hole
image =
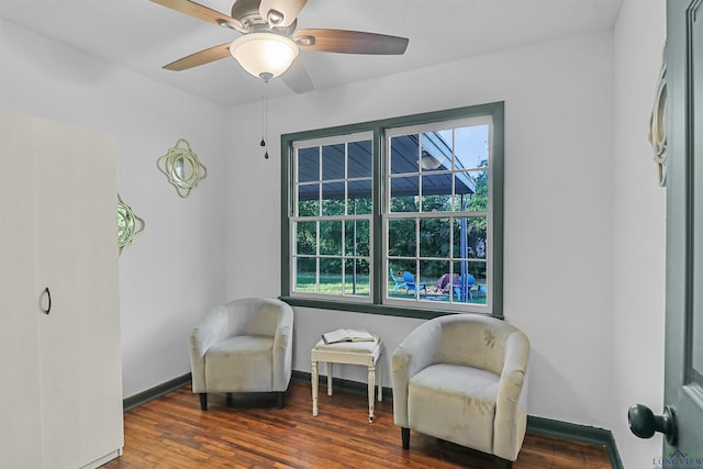
[[230, 54], [246, 71], [268, 81], [288, 70], [298, 57], [298, 46], [280, 34], [249, 33], [232, 41]]

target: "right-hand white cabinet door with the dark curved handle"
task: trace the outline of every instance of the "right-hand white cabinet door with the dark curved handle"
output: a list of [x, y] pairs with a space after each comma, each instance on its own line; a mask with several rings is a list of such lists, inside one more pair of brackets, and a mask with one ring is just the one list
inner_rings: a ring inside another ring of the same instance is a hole
[[40, 320], [44, 459], [89, 465], [121, 449], [115, 145], [37, 120], [37, 280], [52, 293]]

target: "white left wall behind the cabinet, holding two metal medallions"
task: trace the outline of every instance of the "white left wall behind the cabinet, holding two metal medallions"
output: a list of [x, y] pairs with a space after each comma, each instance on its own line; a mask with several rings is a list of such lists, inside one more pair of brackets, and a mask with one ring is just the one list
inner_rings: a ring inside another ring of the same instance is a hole
[[[124, 395], [188, 372], [192, 324], [225, 292], [224, 110], [4, 22], [0, 54], [0, 107], [114, 135], [119, 191], [146, 220], [120, 258]], [[156, 168], [180, 137], [210, 170], [188, 199]]]

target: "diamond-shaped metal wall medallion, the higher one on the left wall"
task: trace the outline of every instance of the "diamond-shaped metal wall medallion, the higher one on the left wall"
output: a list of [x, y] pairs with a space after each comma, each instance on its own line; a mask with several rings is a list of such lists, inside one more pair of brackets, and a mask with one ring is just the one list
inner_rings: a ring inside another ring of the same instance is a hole
[[[179, 146], [185, 144], [185, 147]], [[179, 138], [176, 146], [156, 161], [158, 170], [166, 175], [182, 198], [190, 196], [198, 183], [208, 176], [208, 168], [200, 163], [186, 138]]]

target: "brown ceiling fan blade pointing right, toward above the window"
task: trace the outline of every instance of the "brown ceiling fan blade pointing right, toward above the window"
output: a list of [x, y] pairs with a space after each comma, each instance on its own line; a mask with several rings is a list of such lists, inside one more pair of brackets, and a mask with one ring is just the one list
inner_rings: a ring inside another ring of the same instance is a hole
[[303, 51], [343, 54], [401, 55], [408, 48], [406, 37], [345, 30], [300, 30], [293, 41]]

